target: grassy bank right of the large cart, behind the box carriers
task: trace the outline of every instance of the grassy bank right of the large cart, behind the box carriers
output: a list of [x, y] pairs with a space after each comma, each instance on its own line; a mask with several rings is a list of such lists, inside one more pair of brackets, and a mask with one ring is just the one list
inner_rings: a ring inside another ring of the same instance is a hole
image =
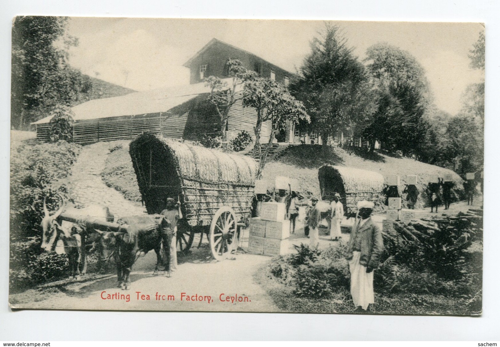
[[319, 196], [319, 182], [317, 169], [323, 164], [354, 167], [367, 171], [380, 173], [382, 176], [400, 175], [401, 186], [399, 193], [405, 202], [404, 175], [418, 175], [417, 189], [419, 192], [415, 208], [427, 206], [427, 194], [425, 192], [427, 182], [433, 175], [442, 177], [445, 173], [451, 173], [458, 187], [457, 198], [461, 197], [462, 179], [451, 170], [435, 165], [425, 164], [414, 159], [404, 157], [392, 157], [379, 153], [367, 153], [358, 148], [356, 153], [347, 153], [339, 147], [331, 147], [326, 158], [321, 155], [320, 145], [291, 145], [280, 151], [277, 159], [268, 162], [263, 172], [263, 178], [274, 182], [276, 176], [288, 176], [296, 178], [302, 192], [307, 196]]

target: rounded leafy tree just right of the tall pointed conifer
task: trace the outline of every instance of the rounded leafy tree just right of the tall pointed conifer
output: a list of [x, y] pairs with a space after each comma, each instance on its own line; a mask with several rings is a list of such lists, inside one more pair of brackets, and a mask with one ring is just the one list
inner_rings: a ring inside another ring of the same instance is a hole
[[[365, 133], [384, 138], [385, 146], [400, 150], [403, 155], [422, 156], [423, 148], [428, 145], [424, 141], [432, 137], [423, 118], [431, 102], [424, 69], [411, 54], [386, 43], [368, 47], [366, 55], [370, 61], [367, 68], [379, 91], [378, 103], [385, 105], [382, 107], [387, 111], [384, 115], [379, 106], [374, 116], [390, 119], [391, 126], [382, 135], [377, 135], [376, 127], [366, 128]], [[386, 104], [388, 100], [391, 105]], [[372, 120], [371, 124], [376, 122]]]

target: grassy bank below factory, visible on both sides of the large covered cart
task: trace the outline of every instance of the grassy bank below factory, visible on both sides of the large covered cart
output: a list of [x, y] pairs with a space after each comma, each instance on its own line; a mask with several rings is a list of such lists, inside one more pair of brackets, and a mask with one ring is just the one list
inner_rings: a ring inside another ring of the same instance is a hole
[[[125, 198], [131, 201], [140, 201], [140, 194], [133, 172], [132, 163], [128, 154], [129, 141], [109, 142], [109, 149], [106, 165], [101, 175], [104, 182], [109, 187], [121, 191]], [[115, 147], [117, 146], [117, 147]], [[115, 147], [115, 148], [113, 148]], [[120, 148], [121, 147], [121, 148]], [[332, 147], [326, 158], [321, 157], [321, 147], [319, 145], [291, 145], [281, 147], [277, 159], [268, 162], [263, 172], [263, 178], [269, 183], [274, 182], [276, 176], [288, 176], [296, 178], [299, 182], [301, 192], [308, 197], [319, 196], [319, 182], [317, 169], [323, 164], [349, 166], [368, 171], [374, 171], [387, 175], [418, 175], [419, 191], [415, 208], [427, 206], [427, 194], [425, 192], [428, 179], [432, 175], [443, 176], [444, 173], [452, 173], [456, 186], [461, 194], [461, 178], [454, 172], [409, 158], [396, 158], [378, 153], [358, 152], [349, 154], [345, 150]], [[400, 187], [400, 193], [404, 188]], [[405, 194], [403, 196], [403, 205]], [[383, 199], [383, 197], [381, 197]]]

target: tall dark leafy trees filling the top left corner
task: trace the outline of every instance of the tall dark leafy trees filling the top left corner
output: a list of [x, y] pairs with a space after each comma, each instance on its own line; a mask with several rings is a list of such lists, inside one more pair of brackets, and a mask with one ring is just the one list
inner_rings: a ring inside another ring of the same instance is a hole
[[24, 128], [57, 104], [70, 105], [81, 74], [67, 63], [77, 40], [65, 34], [67, 17], [17, 16], [12, 25], [11, 124]]

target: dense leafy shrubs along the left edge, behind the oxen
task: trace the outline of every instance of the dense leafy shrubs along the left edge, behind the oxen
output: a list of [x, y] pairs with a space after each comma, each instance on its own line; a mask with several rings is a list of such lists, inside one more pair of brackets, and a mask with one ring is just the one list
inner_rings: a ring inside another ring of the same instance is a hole
[[40, 249], [43, 199], [54, 210], [63, 197], [70, 200], [66, 181], [80, 146], [56, 143], [25, 143], [10, 160], [10, 287], [13, 290], [54, 280], [67, 272], [64, 255]]

